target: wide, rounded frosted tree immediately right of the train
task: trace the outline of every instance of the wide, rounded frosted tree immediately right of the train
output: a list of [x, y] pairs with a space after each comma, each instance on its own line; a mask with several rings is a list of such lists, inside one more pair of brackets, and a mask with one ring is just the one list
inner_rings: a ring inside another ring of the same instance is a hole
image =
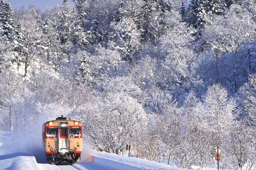
[[84, 135], [94, 146], [105, 152], [120, 154], [125, 144], [131, 143], [140, 127], [145, 127], [147, 116], [137, 100], [124, 93], [109, 95], [99, 105], [84, 105], [79, 118]]

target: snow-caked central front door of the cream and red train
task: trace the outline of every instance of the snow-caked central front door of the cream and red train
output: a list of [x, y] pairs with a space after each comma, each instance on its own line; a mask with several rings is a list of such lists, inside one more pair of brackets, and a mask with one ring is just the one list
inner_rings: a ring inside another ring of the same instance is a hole
[[69, 129], [68, 127], [60, 127], [59, 128], [59, 136], [58, 136], [58, 148], [59, 152], [66, 153], [69, 152]]

